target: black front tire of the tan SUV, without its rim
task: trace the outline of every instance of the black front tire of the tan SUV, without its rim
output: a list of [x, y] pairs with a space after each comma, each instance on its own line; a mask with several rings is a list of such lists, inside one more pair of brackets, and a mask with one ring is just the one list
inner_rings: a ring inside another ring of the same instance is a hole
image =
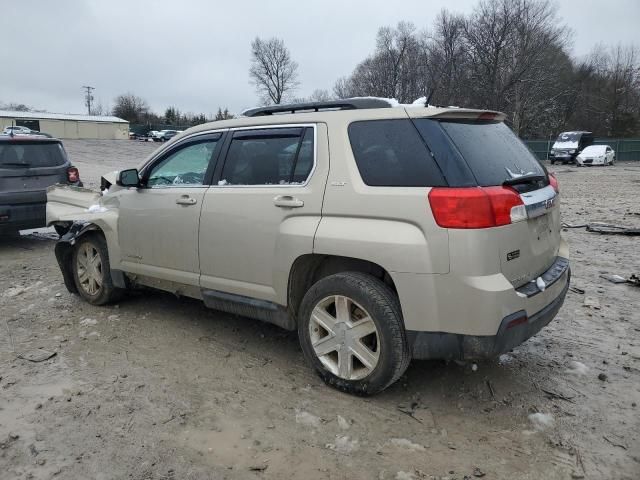
[[[79, 279], [78, 256], [85, 246], [91, 248], [100, 256], [101, 267], [99, 269], [99, 274], [101, 276], [102, 283], [93, 294], [88, 291], [88, 288], [83, 285]], [[73, 248], [71, 262], [71, 271], [73, 272], [73, 280], [76, 284], [76, 288], [78, 289], [78, 294], [88, 303], [92, 305], [105, 305], [122, 298], [124, 291], [120, 288], [114, 287], [113, 282], [111, 281], [109, 252], [107, 251], [107, 243], [102, 234], [91, 232], [80, 237]]]

